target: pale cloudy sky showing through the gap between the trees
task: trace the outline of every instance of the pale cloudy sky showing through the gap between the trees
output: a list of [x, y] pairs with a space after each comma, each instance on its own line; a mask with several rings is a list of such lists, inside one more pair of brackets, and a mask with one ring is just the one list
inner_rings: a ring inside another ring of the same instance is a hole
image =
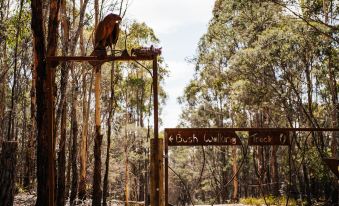
[[169, 69], [161, 129], [179, 123], [181, 106], [177, 98], [194, 74], [194, 65], [185, 59], [196, 54], [199, 39], [212, 18], [213, 5], [214, 0], [130, 0], [126, 17], [145, 22], [154, 30]]

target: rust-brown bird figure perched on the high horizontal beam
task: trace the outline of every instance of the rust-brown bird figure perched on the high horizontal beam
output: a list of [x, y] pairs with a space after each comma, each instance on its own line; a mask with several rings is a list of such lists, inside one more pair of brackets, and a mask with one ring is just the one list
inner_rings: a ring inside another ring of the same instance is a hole
[[106, 56], [106, 47], [113, 50], [119, 38], [119, 24], [122, 18], [116, 14], [108, 14], [95, 29], [94, 51], [91, 56]]

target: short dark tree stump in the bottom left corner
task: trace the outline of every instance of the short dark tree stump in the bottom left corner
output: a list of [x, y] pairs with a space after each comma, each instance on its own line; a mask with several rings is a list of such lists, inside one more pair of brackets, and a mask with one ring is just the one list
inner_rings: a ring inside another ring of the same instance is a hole
[[3, 141], [0, 155], [0, 206], [11, 206], [14, 201], [16, 153], [18, 142]]

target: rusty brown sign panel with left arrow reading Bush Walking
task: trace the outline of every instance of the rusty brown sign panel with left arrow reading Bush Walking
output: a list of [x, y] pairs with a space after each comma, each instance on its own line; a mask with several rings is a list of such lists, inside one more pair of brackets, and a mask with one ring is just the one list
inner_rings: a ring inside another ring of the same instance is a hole
[[219, 128], [165, 129], [168, 146], [241, 145], [234, 131]]

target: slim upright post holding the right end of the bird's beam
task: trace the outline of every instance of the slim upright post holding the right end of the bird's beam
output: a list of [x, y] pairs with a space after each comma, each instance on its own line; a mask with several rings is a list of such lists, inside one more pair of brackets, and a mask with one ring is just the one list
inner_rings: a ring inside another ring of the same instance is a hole
[[151, 149], [151, 206], [160, 204], [160, 164], [159, 164], [159, 119], [158, 119], [158, 56], [153, 57], [153, 104], [154, 104], [154, 147]]

